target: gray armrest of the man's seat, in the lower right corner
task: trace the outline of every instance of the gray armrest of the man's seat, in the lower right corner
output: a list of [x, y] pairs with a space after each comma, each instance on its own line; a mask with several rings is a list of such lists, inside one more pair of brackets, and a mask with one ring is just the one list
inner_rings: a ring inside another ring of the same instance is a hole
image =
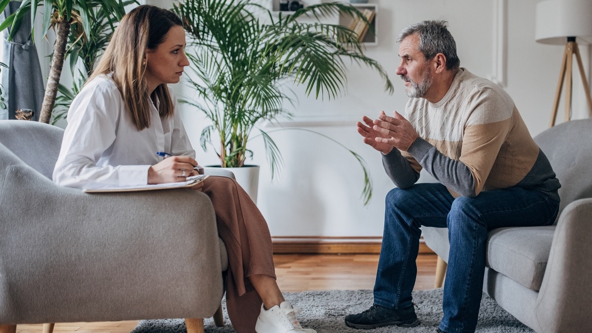
[[545, 332], [592, 331], [592, 198], [568, 204], [555, 230], [536, 301]]

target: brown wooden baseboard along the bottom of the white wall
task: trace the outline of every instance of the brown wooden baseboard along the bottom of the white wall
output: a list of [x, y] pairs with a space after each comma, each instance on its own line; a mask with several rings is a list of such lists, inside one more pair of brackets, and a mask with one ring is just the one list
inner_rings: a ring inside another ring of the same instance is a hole
[[[272, 237], [274, 254], [379, 254], [382, 237]], [[434, 254], [423, 239], [420, 254]]]

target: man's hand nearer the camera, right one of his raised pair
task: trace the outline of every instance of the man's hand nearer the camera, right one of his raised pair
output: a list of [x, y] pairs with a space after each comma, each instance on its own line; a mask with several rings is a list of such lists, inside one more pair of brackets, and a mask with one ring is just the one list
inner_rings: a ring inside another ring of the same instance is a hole
[[384, 111], [380, 111], [372, 127], [377, 133], [375, 140], [378, 145], [390, 145], [406, 152], [419, 135], [405, 117], [397, 111], [394, 111], [393, 115], [394, 117], [389, 117]]

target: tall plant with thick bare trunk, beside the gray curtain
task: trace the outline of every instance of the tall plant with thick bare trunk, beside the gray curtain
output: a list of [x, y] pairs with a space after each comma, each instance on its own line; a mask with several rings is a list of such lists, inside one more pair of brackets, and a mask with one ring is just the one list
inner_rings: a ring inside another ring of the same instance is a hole
[[[9, 1], [0, 1], [0, 11], [4, 11]], [[72, 24], [80, 24], [87, 35], [91, 34], [91, 22], [96, 21], [96, 13], [101, 12], [107, 17], [113, 28], [113, 23], [121, 20], [125, 14], [121, 0], [24, 0], [20, 7], [2, 24], [0, 31], [11, 27], [9, 40], [21, 25], [25, 15], [31, 15], [31, 24], [35, 23], [38, 7], [43, 7], [43, 37], [50, 28], [56, 30], [56, 41], [53, 44], [52, 65], [47, 78], [45, 96], [41, 105], [39, 121], [49, 123], [56, 101], [60, 76], [65, 59], [66, 44], [70, 36]], [[94, 8], [97, 8], [96, 11]]]

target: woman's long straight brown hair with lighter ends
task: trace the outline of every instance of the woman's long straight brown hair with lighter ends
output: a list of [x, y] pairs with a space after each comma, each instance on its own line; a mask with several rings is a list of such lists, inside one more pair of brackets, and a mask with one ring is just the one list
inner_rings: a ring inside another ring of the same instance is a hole
[[[154, 50], [165, 40], [170, 28], [181, 25], [173, 12], [153, 5], [141, 5], [128, 12], [120, 21], [111, 41], [87, 82], [101, 74], [112, 73], [131, 120], [138, 130], [150, 127], [150, 99], [144, 79], [147, 50]], [[158, 100], [160, 117], [173, 115], [173, 101], [166, 84], [159, 85], [150, 95]]]

